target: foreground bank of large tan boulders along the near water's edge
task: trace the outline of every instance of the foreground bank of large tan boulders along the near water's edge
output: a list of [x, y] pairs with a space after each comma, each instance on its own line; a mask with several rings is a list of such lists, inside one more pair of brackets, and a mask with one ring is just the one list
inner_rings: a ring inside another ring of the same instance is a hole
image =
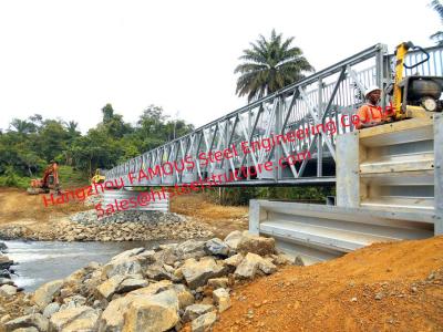
[[[3, 308], [6, 331], [207, 331], [230, 307], [233, 287], [278, 266], [274, 239], [234, 231], [225, 240], [187, 240], [91, 262], [22, 299], [24, 315]], [[10, 295], [16, 297], [16, 295]]]

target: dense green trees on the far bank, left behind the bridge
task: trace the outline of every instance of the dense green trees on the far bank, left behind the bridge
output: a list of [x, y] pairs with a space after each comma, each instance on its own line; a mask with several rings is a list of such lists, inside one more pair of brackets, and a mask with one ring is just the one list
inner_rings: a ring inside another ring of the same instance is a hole
[[[10, 128], [0, 132], [0, 185], [25, 187], [29, 178], [40, 176], [51, 160], [80, 170], [87, 179], [95, 168], [111, 168], [193, 129], [182, 120], [169, 120], [154, 105], [135, 125], [125, 123], [111, 104], [102, 108], [102, 122], [86, 135], [73, 121], [45, 120], [39, 114], [13, 118]], [[68, 167], [61, 172], [65, 178], [75, 176], [69, 175]]]

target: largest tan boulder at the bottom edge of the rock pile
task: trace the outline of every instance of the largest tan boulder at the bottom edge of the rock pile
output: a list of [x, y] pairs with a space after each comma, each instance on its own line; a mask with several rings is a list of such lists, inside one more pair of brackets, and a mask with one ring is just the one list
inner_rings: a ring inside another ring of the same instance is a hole
[[134, 297], [124, 313], [124, 332], [167, 331], [178, 322], [178, 299], [173, 290], [150, 298]]

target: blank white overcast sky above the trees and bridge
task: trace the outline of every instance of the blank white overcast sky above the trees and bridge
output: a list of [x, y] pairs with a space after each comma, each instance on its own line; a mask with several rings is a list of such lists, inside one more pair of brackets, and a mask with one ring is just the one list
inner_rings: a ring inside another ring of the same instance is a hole
[[375, 43], [431, 46], [427, 0], [0, 0], [0, 128], [35, 113], [85, 133], [111, 103], [135, 123], [148, 105], [195, 126], [247, 102], [238, 56], [276, 29], [321, 70]]

